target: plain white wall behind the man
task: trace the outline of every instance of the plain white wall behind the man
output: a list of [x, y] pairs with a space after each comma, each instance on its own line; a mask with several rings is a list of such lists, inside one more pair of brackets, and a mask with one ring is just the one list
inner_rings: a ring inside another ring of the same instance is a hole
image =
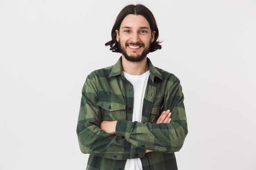
[[[81, 88], [120, 54], [104, 46], [129, 2], [0, 1], [0, 170], [84, 170]], [[148, 57], [180, 78], [189, 134], [180, 170], [256, 169], [256, 1], [144, 0], [163, 48]]]

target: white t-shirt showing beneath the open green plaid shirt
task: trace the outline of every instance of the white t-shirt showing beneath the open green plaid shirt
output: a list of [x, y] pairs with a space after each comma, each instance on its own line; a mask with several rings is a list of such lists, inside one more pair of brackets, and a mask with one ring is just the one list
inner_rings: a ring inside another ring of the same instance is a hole
[[[134, 90], [132, 121], [141, 122], [144, 95], [149, 75], [149, 71], [142, 75], [130, 75], [124, 72], [124, 76], [132, 84]], [[124, 170], [142, 170], [141, 160], [139, 158], [127, 159]]]

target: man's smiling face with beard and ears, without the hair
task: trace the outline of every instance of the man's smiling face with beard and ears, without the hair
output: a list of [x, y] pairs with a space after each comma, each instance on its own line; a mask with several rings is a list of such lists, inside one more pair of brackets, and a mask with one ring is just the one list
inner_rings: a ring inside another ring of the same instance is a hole
[[149, 23], [142, 15], [127, 15], [116, 33], [119, 49], [130, 62], [143, 60], [155, 39], [155, 31], [151, 33]]

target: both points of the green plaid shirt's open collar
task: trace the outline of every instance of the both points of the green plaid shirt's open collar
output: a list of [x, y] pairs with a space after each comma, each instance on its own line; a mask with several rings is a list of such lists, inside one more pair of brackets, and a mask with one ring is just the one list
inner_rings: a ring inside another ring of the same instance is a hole
[[[150, 71], [150, 76], [149, 76], [150, 79], [154, 81], [154, 78], [158, 77], [159, 79], [163, 80], [162, 74], [157, 70], [156, 67], [153, 66], [149, 58], [147, 58], [147, 62], [148, 62], [148, 67]], [[109, 77], [114, 77], [117, 75], [121, 75], [121, 77], [125, 80], [124, 72], [122, 68], [122, 57], [120, 57], [117, 63], [113, 65], [112, 71], [110, 72]]]

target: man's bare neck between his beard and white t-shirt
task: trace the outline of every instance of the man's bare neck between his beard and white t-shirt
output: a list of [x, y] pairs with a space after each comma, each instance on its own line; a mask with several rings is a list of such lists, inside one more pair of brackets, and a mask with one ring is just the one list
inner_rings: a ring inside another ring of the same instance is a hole
[[140, 62], [130, 62], [122, 56], [122, 67], [124, 72], [130, 75], [142, 75], [148, 71], [147, 57]]

